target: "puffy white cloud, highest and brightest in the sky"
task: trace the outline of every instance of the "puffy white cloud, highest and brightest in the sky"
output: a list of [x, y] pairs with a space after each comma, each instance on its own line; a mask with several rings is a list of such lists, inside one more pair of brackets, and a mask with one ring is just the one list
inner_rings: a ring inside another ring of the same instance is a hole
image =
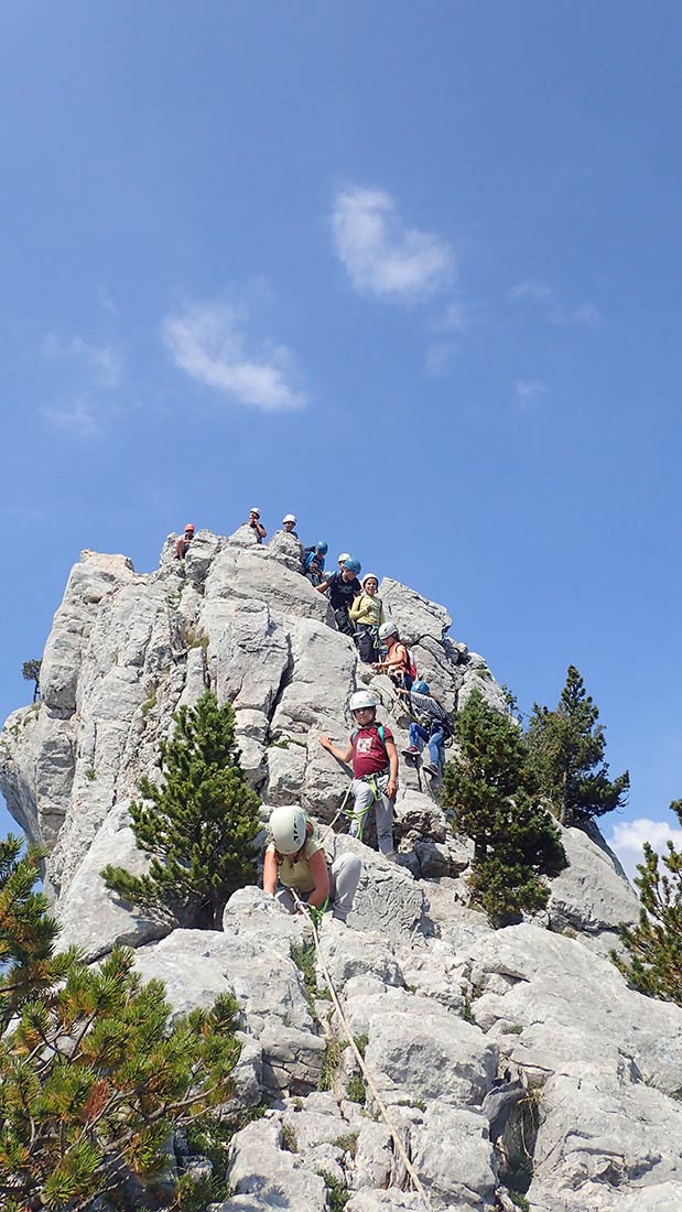
[[338, 193], [332, 229], [339, 261], [361, 293], [423, 298], [452, 276], [449, 245], [431, 231], [403, 228], [395, 200], [383, 190]]

